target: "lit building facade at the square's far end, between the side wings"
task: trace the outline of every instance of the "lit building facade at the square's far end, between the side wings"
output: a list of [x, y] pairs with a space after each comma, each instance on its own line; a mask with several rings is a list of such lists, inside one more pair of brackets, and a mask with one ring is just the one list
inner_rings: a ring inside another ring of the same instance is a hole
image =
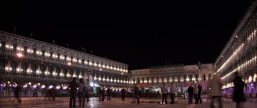
[[177, 93], [185, 93], [190, 83], [201, 83], [203, 91], [208, 92], [208, 82], [213, 77], [215, 71], [213, 64], [195, 64], [195, 65], [164, 65], [150, 67], [149, 69], [130, 70], [131, 83], [140, 84], [144, 87], [154, 88], [158, 91], [163, 83], [168, 88], [170, 82], [177, 88]]

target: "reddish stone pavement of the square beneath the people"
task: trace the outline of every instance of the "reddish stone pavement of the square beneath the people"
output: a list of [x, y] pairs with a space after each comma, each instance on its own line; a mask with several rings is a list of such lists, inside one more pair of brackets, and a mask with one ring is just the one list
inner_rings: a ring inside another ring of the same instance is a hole
[[[16, 103], [17, 99], [0, 98], [0, 108], [69, 108], [69, 97], [56, 97], [55, 101], [44, 101], [44, 97], [21, 97], [22, 103]], [[13, 102], [14, 100], [14, 102]], [[98, 98], [89, 98], [85, 108], [210, 108], [209, 101], [203, 104], [188, 104], [188, 100], [175, 100], [175, 104], [161, 104], [160, 98], [143, 98], [141, 104], [131, 103], [133, 98], [111, 98], [112, 101], [98, 101]], [[168, 99], [170, 102], [170, 98]], [[76, 106], [79, 107], [77, 98]], [[236, 108], [236, 103], [223, 102], [223, 108]], [[217, 108], [217, 105], [214, 105]], [[257, 108], [257, 102], [244, 102], [242, 108]]]

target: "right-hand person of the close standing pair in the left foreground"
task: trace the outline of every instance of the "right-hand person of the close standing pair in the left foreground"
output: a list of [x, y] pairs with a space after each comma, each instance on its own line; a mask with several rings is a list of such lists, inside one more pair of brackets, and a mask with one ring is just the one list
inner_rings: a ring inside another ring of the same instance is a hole
[[85, 82], [83, 81], [82, 78], [80, 79], [78, 91], [79, 91], [79, 102], [80, 102], [80, 106], [79, 107], [81, 107], [81, 103], [82, 102], [83, 102], [82, 107], [84, 107], [85, 106], [85, 95], [83, 95], [83, 92], [86, 92], [86, 86], [85, 86]]

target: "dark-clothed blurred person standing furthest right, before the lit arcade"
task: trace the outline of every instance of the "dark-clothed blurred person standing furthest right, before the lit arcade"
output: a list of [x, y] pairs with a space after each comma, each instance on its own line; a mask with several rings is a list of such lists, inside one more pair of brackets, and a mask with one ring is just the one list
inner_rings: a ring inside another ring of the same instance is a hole
[[235, 78], [233, 80], [234, 83], [234, 93], [233, 93], [233, 99], [236, 102], [236, 108], [241, 108], [241, 101], [244, 97], [244, 81], [242, 81], [242, 78], [238, 75], [238, 72], [235, 72]]

